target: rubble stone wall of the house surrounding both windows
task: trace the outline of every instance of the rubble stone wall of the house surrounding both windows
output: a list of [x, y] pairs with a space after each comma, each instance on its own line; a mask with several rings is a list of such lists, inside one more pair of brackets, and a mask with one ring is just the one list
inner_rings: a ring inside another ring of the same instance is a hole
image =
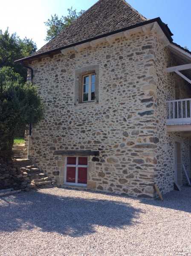
[[[155, 181], [162, 192], [171, 190], [165, 100], [174, 99], [174, 79], [164, 71], [169, 55], [148, 31], [33, 61], [34, 83], [47, 105], [46, 119], [32, 131], [35, 164], [63, 185], [65, 157], [54, 151], [98, 150], [99, 157], [89, 157], [87, 188], [138, 198], [154, 198]], [[94, 65], [98, 102], [75, 104], [81, 79], [76, 73]]]

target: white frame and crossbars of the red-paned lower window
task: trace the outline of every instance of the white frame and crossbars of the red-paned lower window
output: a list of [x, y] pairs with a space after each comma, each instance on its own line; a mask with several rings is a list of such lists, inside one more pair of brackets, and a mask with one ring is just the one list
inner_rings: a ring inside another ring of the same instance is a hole
[[[66, 157], [66, 160], [65, 160], [65, 175], [64, 175], [64, 184], [65, 185], [70, 185], [70, 186], [84, 186], [86, 187], [87, 186], [87, 183], [78, 183], [78, 167], [86, 167], [87, 168], [87, 165], [78, 165], [78, 158], [81, 157], [81, 156], [74, 156], [76, 158], [76, 164], [67, 164], [67, 157]], [[84, 157], [84, 156], [82, 156]], [[88, 160], [88, 158], [87, 158]], [[75, 167], [75, 183], [73, 182], [67, 182], [67, 167]]]

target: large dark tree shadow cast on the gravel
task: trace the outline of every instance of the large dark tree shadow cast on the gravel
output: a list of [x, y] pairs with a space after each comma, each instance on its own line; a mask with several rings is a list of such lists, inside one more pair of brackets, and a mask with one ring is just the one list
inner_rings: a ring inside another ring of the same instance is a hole
[[138, 223], [140, 210], [127, 203], [27, 192], [0, 201], [0, 231], [40, 228], [72, 237], [95, 233], [94, 225], [120, 228]]

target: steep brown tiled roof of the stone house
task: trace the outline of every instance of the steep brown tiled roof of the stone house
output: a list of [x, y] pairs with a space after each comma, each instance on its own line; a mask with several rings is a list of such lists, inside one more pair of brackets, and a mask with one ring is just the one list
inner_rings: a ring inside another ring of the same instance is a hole
[[99, 0], [33, 55], [75, 44], [146, 20], [125, 0]]

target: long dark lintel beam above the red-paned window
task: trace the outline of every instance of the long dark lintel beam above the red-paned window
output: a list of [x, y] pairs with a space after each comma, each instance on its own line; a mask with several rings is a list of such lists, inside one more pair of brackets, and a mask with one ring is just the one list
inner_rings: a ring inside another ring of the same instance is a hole
[[61, 156], [99, 156], [99, 151], [92, 150], [55, 150], [53, 155]]

